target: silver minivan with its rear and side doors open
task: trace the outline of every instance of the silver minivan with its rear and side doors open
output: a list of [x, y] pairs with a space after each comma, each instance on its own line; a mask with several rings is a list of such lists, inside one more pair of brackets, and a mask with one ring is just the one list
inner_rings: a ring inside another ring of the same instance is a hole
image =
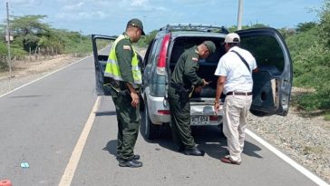
[[[241, 47], [251, 52], [259, 69], [253, 73], [253, 103], [250, 112], [257, 116], [286, 115], [292, 86], [292, 62], [286, 43], [273, 28], [257, 28], [236, 32], [241, 38]], [[200, 93], [190, 98], [191, 125], [220, 125], [222, 112], [215, 113], [214, 98], [218, 77], [214, 72], [219, 58], [225, 54], [222, 45], [228, 31], [224, 27], [205, 24], [168, 24], [148, 46], [143, 59], [144, 135], [155, 139], [160, 134], [160, 126], [170, 123], [170, 106], [167, 100], [171, 72], [177, 60], [186, 49], [211, 40], [216, 44], [216, 52], [199, 61], [199, 76], [211, 81]], [[97, 53], [95, 40], [105, 39], [102, 35], [92, 35], [97, 92], [102, 94], [102, 71], [107, 56]], [[114, 39], [108, 37], [107, 39]], [[221, 95], [224, 101], [225, 95]]]

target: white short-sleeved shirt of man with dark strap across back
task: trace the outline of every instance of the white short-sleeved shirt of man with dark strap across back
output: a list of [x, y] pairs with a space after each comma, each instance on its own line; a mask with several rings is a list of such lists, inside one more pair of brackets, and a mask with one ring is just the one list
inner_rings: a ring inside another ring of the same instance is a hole
[[[248, 72], [247, 66], [235, 54], [231, 51], [236, 51], [240, 54], [248, 63], [251, 72]], [[256, 59], [247, 50], [234, 46], [228, 50], [227, 54], [224, 54], [218, 61], [218, 67], [215, 75], [226, 76], [226, 82], [223, 93], [237, 92], [237, 93], [249, 93], [252, 92], [253, 80], [252, 70], [257, 68]]]

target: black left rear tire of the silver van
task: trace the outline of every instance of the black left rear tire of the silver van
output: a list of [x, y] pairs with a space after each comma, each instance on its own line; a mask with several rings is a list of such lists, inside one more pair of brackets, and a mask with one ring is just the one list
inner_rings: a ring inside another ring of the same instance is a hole
[[144, 104], [144, 137], [148, 140], [154, 140], [160, 136], [160, 125], [153, 124], [150, 121], [148, 105], [145, 102]]

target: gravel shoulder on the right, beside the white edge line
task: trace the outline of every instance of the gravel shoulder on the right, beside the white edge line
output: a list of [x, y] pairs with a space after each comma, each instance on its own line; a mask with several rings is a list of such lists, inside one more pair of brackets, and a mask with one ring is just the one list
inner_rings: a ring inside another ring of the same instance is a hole
[[281, 152], [330, 182], [330, 123], [290, 108], [286, 117], [248, 116], [248, 128]]

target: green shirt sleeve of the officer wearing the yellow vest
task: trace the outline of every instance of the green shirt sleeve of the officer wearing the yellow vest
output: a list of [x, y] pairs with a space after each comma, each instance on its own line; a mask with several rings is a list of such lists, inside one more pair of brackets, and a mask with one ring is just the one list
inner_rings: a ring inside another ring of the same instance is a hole
[[[125, 36], [127, 34], [123, 33]], [[118, 59], [118, 65], [121, 71], [121, 77], [123, 82], [134, 83], [133, 73], [131, 73], [131, 59], [134, 56], [133, 48], [131, 46], [130, 39], [121, 39], [116, 45], [116, 55]], [[126, 90], [127, 86], [121, 82], [121, 90]]]

